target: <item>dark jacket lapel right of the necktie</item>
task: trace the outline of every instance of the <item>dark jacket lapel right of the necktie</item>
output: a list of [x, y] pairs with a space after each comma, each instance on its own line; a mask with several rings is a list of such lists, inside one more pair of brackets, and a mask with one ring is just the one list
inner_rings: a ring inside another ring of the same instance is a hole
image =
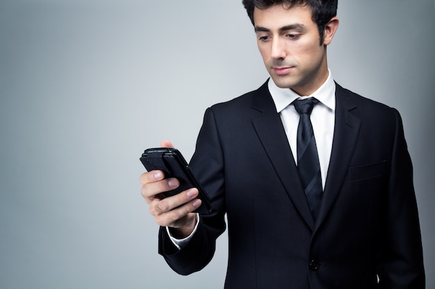
[[321, 225], [331, 210], [347, 175], [361, 125], [359, 118], [352, 114], [354, 109], [356, 109], [356, 105], [347, 96], [346, 90], [340, 85], [336, 85], [334, 141], [316, 228]]

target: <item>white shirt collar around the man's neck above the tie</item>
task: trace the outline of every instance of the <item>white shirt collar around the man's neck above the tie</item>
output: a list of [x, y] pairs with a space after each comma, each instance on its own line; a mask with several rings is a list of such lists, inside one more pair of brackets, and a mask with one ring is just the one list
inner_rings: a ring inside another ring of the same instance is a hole
[[273, 80], [269, 80], [268, 88], [270, 94], [272, 95], [275, 107], [277, 108], [277, 112], [280, 113], [284, 108], [288, 107], [290, 103], [293, 103], [297, 98], [308, 98], [315, 97], [320, 103], [326, 105], [329, 110], [334, 111], [336, 107], [336, 85], [334, 82], [334, 78], [332, 78], [331, 71], [328, 69], [328, 78], [327, 80], [316, 90], [313, 94], [309, 96], [299, 96], [295, 91], [288, 88], [280, 88], [275, 85]]

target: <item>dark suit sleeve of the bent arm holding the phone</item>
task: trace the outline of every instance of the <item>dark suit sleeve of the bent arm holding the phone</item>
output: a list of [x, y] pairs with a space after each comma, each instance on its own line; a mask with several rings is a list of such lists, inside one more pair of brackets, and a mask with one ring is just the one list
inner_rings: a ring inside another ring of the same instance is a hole
[[182, 248], [174, 246], [164, 227], [159, 231], [158, 253], [175, 272], [187, 275], [204, 268], [213, 258], [216, 239], [226, 228], [224, 222], [224, 161], [213, 115], [206, 110], [197, 139], [195, 154], [190, 161], [195, 177], [211, 200], [211, 213], [200, 214], [197, 231]]

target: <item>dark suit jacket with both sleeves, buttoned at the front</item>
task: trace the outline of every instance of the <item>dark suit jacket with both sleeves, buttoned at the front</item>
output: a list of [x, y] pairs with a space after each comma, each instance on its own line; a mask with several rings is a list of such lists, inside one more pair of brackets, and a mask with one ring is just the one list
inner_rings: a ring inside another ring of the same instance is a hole
[[180, 251], [161, 229], [159, 252], [179, 274], [211, 260], [227, 213], [227, 289], [424, 288], [412, 165], [396, 110], [336, 85], [316, 222], [267, 82], [206, 111], [190, 164], [213, 213]]

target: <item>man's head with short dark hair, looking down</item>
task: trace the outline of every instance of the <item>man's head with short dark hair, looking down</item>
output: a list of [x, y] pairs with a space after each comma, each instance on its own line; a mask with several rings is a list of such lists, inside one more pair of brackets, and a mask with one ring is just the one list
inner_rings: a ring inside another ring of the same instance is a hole
[[[333, 11], [325, 16], [322, 11], [328, 9], [322, 8], [320, 0], [243, 3], [254, 24], [261, 57], [275, 84], [301, 96], [317, 90], [329, 75], [327, 45], [338, 28], [338, 18], [329, 16], [335, 15], [336, 9], [330, 9]], [[317, 16], [313, 11], [318, 11]]]

